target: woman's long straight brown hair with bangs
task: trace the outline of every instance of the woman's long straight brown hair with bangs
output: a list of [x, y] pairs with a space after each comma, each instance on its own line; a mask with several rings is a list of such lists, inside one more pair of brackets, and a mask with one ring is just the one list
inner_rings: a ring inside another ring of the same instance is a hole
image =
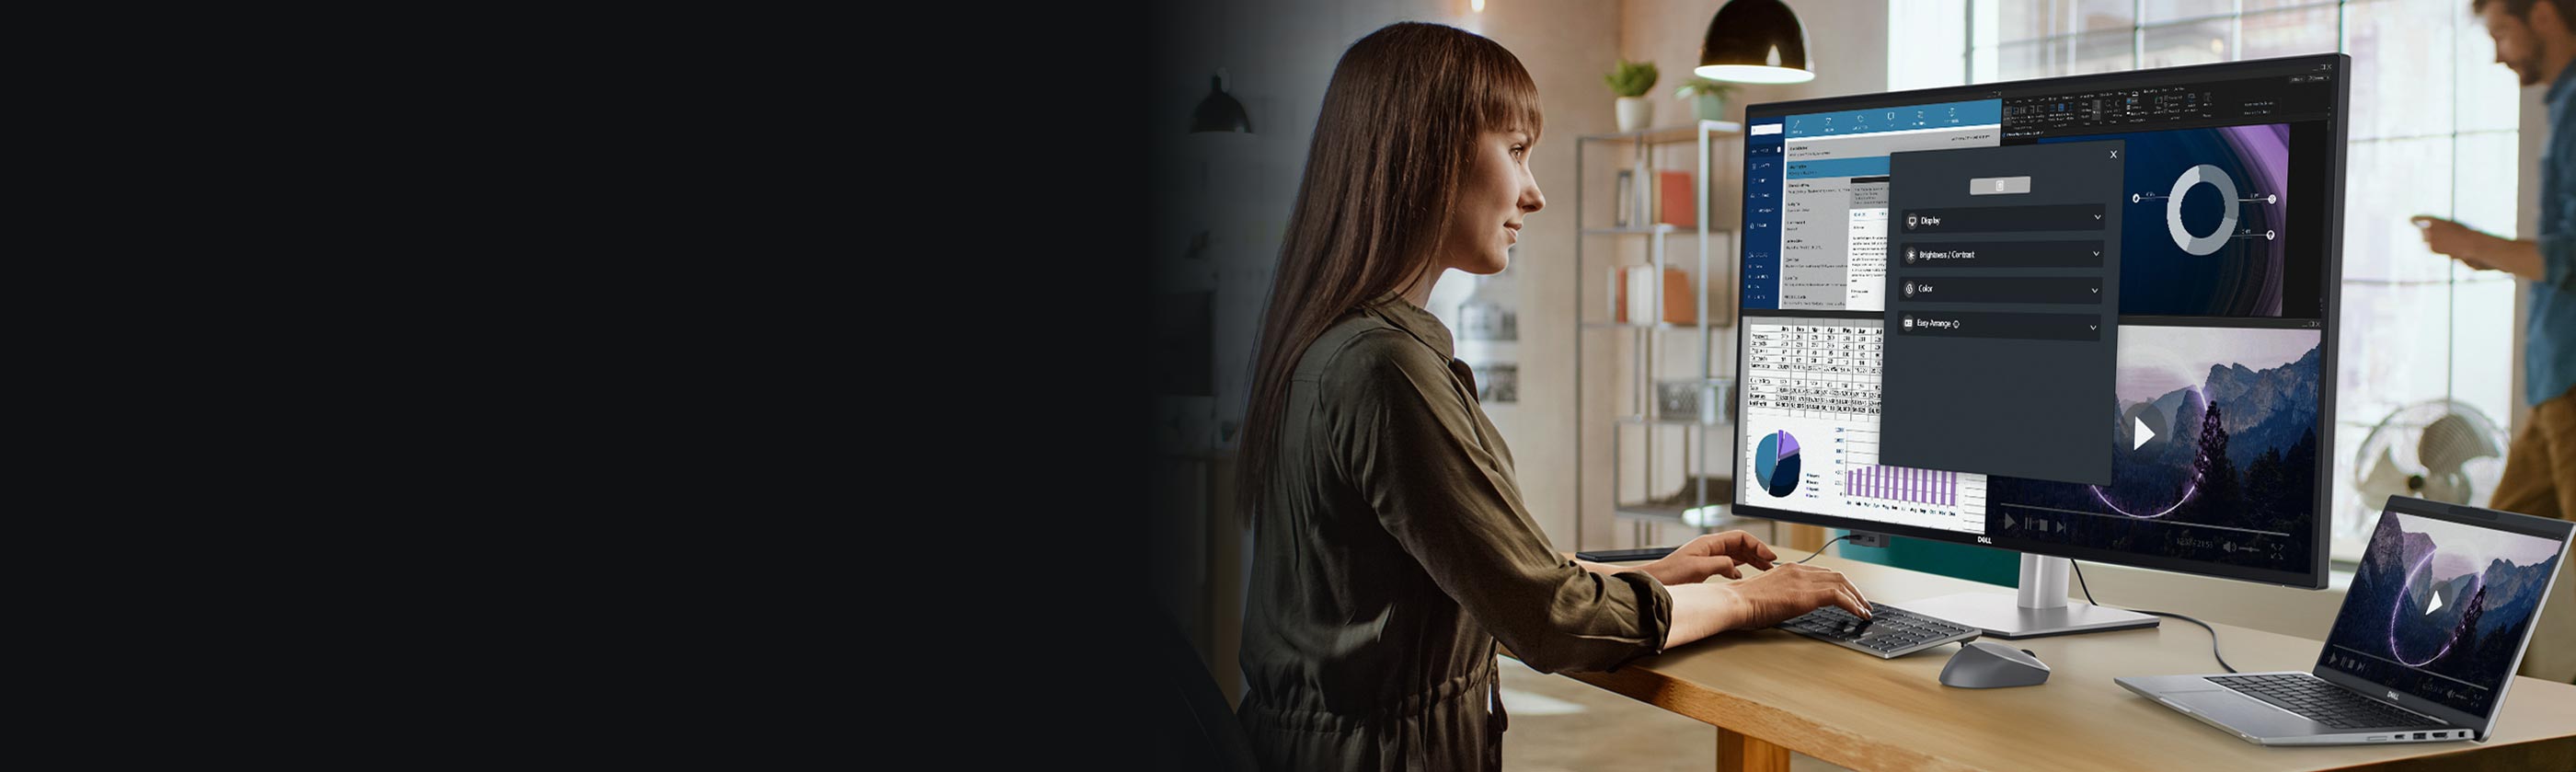
[[1406, 21], [1342, 51], [1252, 355], [1236, 468], [1247, 517], [1260, 517], [1278, 468], [1291, 371], [1342, 314], [1437, 270], [1458, 178], [1481, 134], [1504, 129], [1535, 144], [1538, 85], [1484, 36]]

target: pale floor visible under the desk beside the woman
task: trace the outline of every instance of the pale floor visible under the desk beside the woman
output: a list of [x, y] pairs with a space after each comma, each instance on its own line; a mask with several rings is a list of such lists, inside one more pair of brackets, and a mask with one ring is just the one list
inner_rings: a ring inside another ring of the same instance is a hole
[[[1540, 674], [1502, 659], [1502, 705], [1512, 728], [1502, 733], [1502, 769], [1512, 772], [1708, 772], [1718, 767], [1718, 731], [1667, 710]], [[1790, 757], [1795, 772], [1847, 772], [1837, 764]]]

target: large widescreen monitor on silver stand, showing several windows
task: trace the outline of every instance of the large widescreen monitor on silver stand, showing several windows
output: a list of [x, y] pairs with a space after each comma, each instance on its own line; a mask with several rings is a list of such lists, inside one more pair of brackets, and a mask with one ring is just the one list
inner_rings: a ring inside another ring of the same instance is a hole
[[1744, 111], [1736, 515], [2326, 587], [2344, 54]]

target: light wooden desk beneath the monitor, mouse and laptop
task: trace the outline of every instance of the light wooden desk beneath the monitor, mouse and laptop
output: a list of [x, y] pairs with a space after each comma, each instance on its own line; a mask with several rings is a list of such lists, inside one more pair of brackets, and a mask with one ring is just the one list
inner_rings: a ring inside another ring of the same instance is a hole
[[[1819, 556], [1875, 602], [2012, 589]], [[1723, 582], [1723, 579], [1721, 579]], [[2190, 612], [2190, 610], [2182, 610]], [[2324, 633], [2324, 630], [2318, 630]], [[2002, 641], [2002, 638], [1994, 638]], [[2514, 677], [2483, 744], [2272, 749], [2138, 697], [2112, 677], [2223, 672], [2210, 633], [2182, 620], [2004, 641], [2050, 674], [2038, 687], [1955, 690], [1940, 669], [1958, 646], [1875, 659], [1783, 630], [1734, 630], [1566, 674], [1718, 728], [1718, 769], [1788, 769], [1801, 751], [1852, 769], [2576, 769], [2576, 687]], [[2316, 666], [2321, 641], [2218, 625], [2244, 672]]]

